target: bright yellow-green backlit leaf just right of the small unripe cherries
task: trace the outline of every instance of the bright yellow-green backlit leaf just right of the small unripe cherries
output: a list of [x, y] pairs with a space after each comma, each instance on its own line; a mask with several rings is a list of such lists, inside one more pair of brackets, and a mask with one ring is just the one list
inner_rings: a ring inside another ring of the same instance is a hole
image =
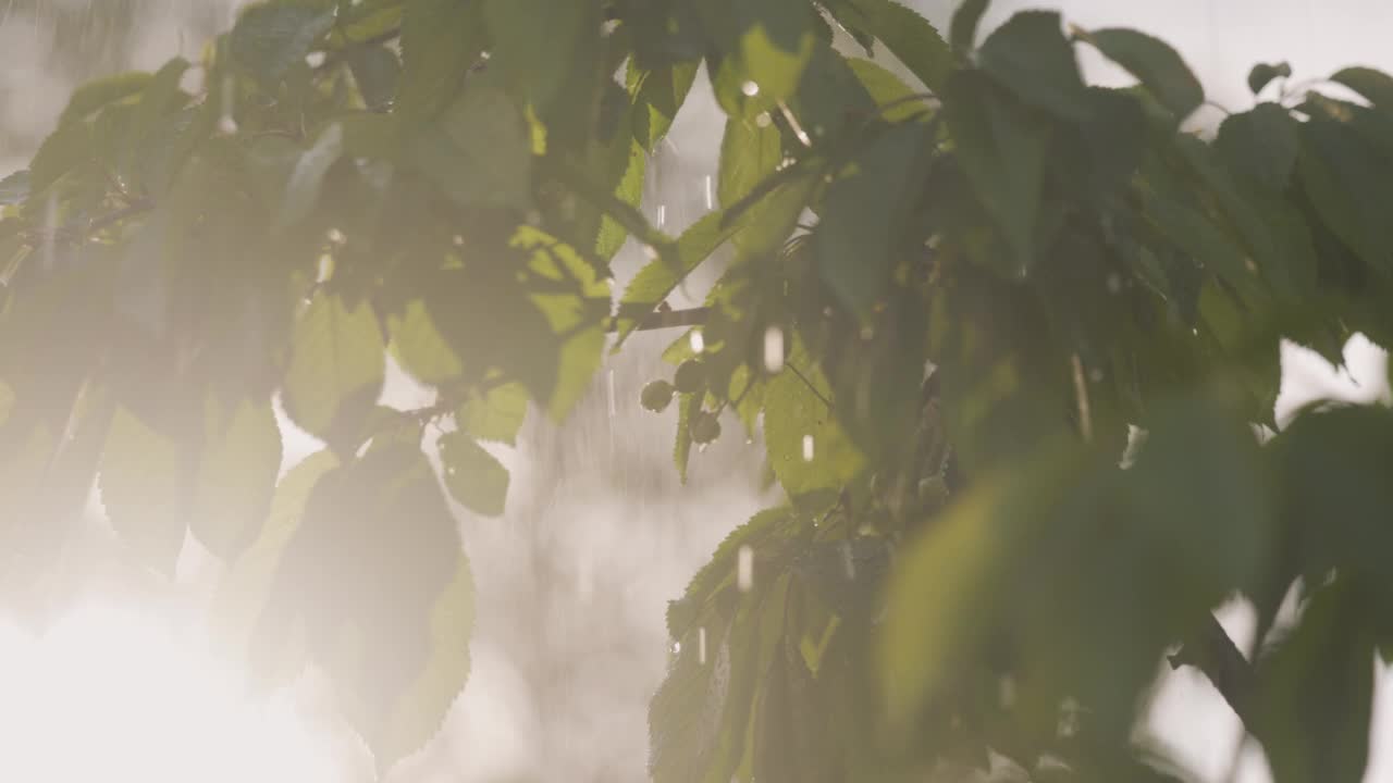
[[826, 378], [798, 348], [765, 392], [765, 446], [790, 497], [840, 490], [865, 468], [865, 457], [827, 407], [830, 396]]

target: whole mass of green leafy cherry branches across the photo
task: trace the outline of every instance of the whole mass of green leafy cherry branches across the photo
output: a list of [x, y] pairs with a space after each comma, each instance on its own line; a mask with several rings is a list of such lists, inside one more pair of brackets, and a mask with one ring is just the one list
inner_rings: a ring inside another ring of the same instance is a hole
[[[1202, 138], [1162, 40], [986, 6], [944, 40], [893, 0], [269, 0], [84, 85], [0, 181], [0, 600], [53, 610], [95, 485], [150, 568], [226, 561], [248, 665], [318, 665], [387, 769], [468, 676], [447, 496], [500, 514], [524, 417], [677, 323], [641, 400], [676, 470], [744, 429], [787, 502], [669, 607], [656, 783], [1181, 780], [1133, 731], [1167, 656], [1279, 783], [1358, 782], [1393, 412], [1273, 401], [1283, 339], [1393, 344], [1393, 78], [1259, 64]], [[667, 235], [645, 164], [696, 78], [717, 203]], [[389, 357], [432, 405], [380, 404]], [[325, 444], [284, 475], [276, 404]]]

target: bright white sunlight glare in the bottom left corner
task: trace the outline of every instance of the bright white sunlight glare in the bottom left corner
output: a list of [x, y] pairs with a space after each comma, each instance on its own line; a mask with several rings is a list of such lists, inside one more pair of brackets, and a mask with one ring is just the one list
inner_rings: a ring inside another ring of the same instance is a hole
[[252, 698], [206, 645], [88, 603], [42, 635], [0, 623], [0, 776], [29, 783], [340, 783], [288, 692]]

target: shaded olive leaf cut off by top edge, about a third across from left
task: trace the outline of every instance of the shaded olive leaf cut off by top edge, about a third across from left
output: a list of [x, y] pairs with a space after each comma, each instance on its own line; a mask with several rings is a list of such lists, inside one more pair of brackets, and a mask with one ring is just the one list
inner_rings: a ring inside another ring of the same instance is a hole
[[486, 45], [478, 3], [408, 0], [401, 17], [401, 81], [396, 114], [407, 128], [456, 102]]

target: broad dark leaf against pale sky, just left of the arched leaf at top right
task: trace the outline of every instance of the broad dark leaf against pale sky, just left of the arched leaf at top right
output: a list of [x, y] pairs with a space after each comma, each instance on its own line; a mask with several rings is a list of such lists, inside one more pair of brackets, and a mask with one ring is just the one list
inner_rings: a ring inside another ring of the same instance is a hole
[[996, 28], [978, 67], [1022, 102], [1068, 120], [1089, 116], [1088, 91], [1056, 11], [1021, 11]]

